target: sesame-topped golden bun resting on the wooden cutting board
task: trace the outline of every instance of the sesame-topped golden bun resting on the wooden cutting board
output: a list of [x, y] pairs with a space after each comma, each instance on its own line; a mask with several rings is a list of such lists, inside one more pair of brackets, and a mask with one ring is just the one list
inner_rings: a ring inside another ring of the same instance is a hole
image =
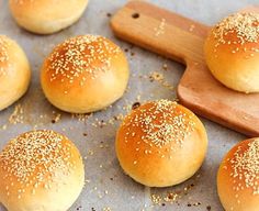
[[206, 64], [226, 87], [259, 92], [259, 13], [236, 13], [212, 29], [204, 45]]

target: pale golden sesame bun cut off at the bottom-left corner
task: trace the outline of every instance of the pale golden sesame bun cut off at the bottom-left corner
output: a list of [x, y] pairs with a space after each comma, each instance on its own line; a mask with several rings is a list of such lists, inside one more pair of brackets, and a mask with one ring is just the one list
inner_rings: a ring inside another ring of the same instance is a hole
[[21, 134], [0, 154], [0, 202], [9, 211], [65, 211], [85, 184], [82, 158], [54, 131]]

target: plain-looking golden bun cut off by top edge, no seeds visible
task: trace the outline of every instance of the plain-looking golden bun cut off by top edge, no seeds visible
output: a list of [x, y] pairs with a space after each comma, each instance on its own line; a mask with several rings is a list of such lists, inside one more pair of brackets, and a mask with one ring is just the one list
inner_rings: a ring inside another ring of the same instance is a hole
[[9, 0], [18, 24], [30, 32], [52, 34], [74, 24], [82, 15], [88, 0]]

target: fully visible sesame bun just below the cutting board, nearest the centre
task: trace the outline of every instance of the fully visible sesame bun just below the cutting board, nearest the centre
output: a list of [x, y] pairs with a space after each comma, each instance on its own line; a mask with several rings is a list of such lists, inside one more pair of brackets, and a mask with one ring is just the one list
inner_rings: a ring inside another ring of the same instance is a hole
[[148, 187], [168, 187], [192, 177], [207, 148], [202, 122], [177, 102], [159, 100], [133, 110], [116, 135], [125, 174]]

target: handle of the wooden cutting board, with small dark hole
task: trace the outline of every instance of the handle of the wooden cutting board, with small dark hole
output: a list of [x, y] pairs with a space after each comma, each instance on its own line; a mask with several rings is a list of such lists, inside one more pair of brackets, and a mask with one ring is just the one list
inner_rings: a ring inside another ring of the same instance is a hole
[[203, 58], [209, 27], [145, 1], [130, 1], [111, 20], [115, 35], [187, 64]]

